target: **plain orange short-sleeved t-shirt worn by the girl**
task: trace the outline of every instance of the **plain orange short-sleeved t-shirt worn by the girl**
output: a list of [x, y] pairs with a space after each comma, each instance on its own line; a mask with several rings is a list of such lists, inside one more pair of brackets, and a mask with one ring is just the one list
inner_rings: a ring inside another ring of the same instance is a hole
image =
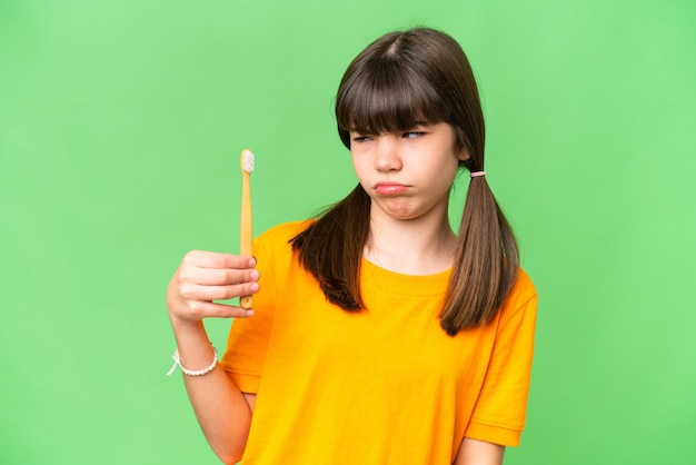
[[[221, 365], [257, 402], [242, 464], [451, 464], [466, 437], [517, 445], [537, 296], [526, 274], [484, 327], [439, 325], [449, 271], [408, 276], [362, 260], [366, 309], [329, 303], [288, 240], [260, 236], [255, 316], [232, 325]], [[230, 418], [233, 421], [233, 418]]]

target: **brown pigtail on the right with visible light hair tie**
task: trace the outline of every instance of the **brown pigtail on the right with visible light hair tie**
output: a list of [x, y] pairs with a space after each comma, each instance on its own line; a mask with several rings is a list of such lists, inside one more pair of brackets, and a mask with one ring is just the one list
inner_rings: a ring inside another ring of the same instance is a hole
[[517, 279], [513, 229], [484, 176], [471, 178], [459, 225], [455, 263], [440, 314], [450, 336], [489, 321]]

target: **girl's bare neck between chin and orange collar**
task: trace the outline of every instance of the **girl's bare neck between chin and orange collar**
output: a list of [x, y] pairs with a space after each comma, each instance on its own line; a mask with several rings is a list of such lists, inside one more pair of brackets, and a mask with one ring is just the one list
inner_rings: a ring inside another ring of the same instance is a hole
[[395, 273], [434, 275], [451, 267], [455, 243], [447, 215], [436, 220], [431, 217], [400, 220], [371, 215], [370, 235], [362, 256]]

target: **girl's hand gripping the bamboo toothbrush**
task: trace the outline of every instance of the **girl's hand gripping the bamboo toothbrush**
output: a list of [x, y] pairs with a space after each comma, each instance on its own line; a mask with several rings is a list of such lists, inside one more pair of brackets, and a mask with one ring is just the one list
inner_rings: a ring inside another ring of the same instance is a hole
[[229, 254], [188, 253], [167, 287], [167, 309], [173, 325], [200, 323], [203, 318], [245, 318], [253, 315], [226, 300], [259, 290], [256, 260]]

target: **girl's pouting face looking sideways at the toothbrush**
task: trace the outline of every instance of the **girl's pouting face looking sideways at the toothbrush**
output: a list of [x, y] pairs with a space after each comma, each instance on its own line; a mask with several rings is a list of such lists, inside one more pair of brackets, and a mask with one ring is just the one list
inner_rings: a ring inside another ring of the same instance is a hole
[[372, 217], [385, 214], [395, 219], [446, 217], [459, 161], [468, 158], [455, 151], [455, 133], [446, 122], [422, 123], [408, 132], [351, 131], [350, 155], [360, 185], [372, 199]]

